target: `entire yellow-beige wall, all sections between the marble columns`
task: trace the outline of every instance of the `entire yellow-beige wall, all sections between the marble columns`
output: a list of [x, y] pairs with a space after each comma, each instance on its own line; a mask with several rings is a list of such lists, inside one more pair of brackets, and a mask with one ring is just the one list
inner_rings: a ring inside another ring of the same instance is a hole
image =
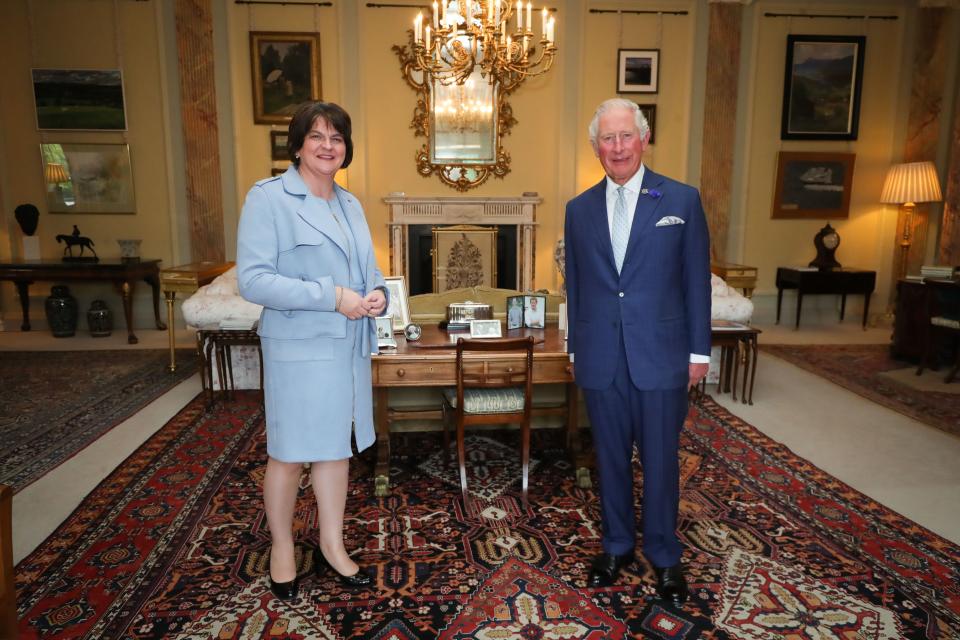
[[[159, 1], [159, 0], [155, 0]], [[332, 7], [236, 5], [214, 0], [214, 25], [219, 43], [218, 96], [225, 197], [227, 255], [233, 258], [239, 207], [250, 186], [269, 175], [268, 125], [253, 123], [248, 32], [318, 31], [321, 36], [323, 98], [344, 104], [354, 115], [357, 143], [355, 165], [342, 182], [364, 203], [380, 264], [388, 265], [388, 210], [381, 199], [393, 191], [411, 195], [456, 195], [436, 177], [417, 174], [414, 155], [424, 140], [410, 129], [415, 94], [400, 76], [394, 44], [406, 42], [413, 8], [374, 9], [366, 3], [338, 0]], [[416, 3], [411, 0], [411, 4]], [[591, 14], [594, 6], [623, 9], [685, 10], [684, 16]], [[758, 293], [773, 291], [779, 265], [805, 264], [814, 255], [812, 238], [822, 220], [771, 220], [773, 183], [778, 151], [831, 150], [857, 154], [850, 217], [833, 222], [842, 237], [838, 259], [849, 266], [879, 272], [878, 293], [890, 286], [896, 211], [877, 203], [887, 166], [903, 147], [906, 100], [909, 95], [909, 51], [913, 2], [879, 0], [759, 0], [744, 6], [744, 42], [735, 157], [735, 193], [728, 255], [760, 269]], [[552, 261], [553, 245], [562, 235], [565, 201], [602, 177], [586, 139], [593, 108], [611, 97], [615, 88], [618, 48], [659, 48], [660, 91], [624, 97], [657, 105], [657, 144], [645, 161], [656, 171], [680, 180], [698, 175], [700, 123], [705, 59], [701, 37], [707, 0], [650, 2], [622, 0], [593, 3], [560, 0], [560, 53], [549, 74], [531, 79], [509, 100], [517, 124], [504, 142], [512, 171], [491, 178], [471, 195], [519, 195], [536, 191], [544, 199], [538, 212], [536, 286], [556, 289], [559, 277]], [[114, 10], [119, 15], [114, 16]], [[767, 11], [884, 13], [894, 21], [801, 20], [765, 18]], [[33, 202], [41, 208], [39, 235], [44, 257], [55, 259], [60, 249], [53, 237], [78, 224], [94, 238], [103, 257], [116, 257], [115, 240], [144, 239], [143, 254], [165, 265], [186, 261], [189, 246], [181, 164], [181, 132], [176, 129], [179, 106], [175, 47], [169, 5], [113, 0], [8, 0], [0, 7], [0, 258], [16, 259], [20, 231], [13, 208]], [[166, 20], [158, 20], [162, 12]], [[119, 22], [120, 32], [114, 30]], [[956, 24], [957, 21], [954, 20]], [[100, 37], [90, 38], [90, 33]], [[785, 41], [788, 33], [856, 34], [867, 36], [860, 136], [852, 142], [781, 141], [779, 136]], [[701, 36], [698, 36], [701, 34]], [[117, 49], [120, 54], [118, 56]], [[164, 49], [166, 47], [166, 50]], [[571, 52], [579, 55], [571, 55]], [[116, 67], [124, 71], [129, 130], [125, 133], [38, 132], [33, 115], [29, 69], [51, 67]], [[955, 67], [953, 67], [955, 69]], [[951, 92], [951, 96], [952, 96]], [[170, 96], [165, 104], [165, 96]], [[952, 105], [945, 105], [950, 107]], [[952, 113], [952, 108], [945, 108]], [[166, 130], [166, 117], [174, 122]], [[950, 127], [941, 126], [948, 132]], [[943, 135], [947, 135], [944, 133]], [[128, 142], [134, 170], [135, 215], [53, 215], [43, 206], [37, 145], [41, 140]], [[236, 199], [236, 206], [232, 200]], [[81, 305], [93, 297], [113, 299], [105, 286], [77, 287]], [[35, 287], [34, 317], [44, 283]], [[145, 292], [141, 292], [141, 296]], [[42, 296], [41, 296], [42, 294]], [[147, 305], [137, 305], [138, 323], [147, 321]], [[0, 311], [14, 328], [19, 305], [12, 288], [0, 289]], [[118, 309], [115, 309], [118, 311]], [[118, 316], [119, 317], [119, 316]]]

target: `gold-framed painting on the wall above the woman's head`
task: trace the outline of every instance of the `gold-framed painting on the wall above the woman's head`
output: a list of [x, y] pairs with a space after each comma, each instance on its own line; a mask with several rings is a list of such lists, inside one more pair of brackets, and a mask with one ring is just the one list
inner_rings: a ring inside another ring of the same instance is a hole
[[286, 124], [304, 102], [320, 100], [320, 37], [250, 32], [253, 121]]

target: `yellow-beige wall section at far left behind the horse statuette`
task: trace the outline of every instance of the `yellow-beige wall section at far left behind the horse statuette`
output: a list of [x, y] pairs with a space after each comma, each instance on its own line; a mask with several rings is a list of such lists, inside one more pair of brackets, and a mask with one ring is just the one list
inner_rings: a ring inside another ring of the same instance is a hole
[[[116, 11], [116, 12], [115, 12]], [[166, 143], [161, 91], [158, 31], [152, 3], [76, 2], [75, 0], [11, 1], [0, 9], [0, 259], [20, 258], [22, 233], [13, 218], [21, 203], [33, 203], [41, 212], [37, 236], [44, 258], [57, 259], [63, 245], [55, 236], [78, 225], [93, 239], [101, 258], [119, 258], [119, 238], [141, 238], [144, 256], [170, 260], [171, 225], [167, 190]], [[119, 26], [119, 34], [118, 29]], [[96, 34], [96, 37], [91, 37]], [[37, 131], [31, 67], [121, 68], [127, 128], [125, 132]], [[136, 214], [77, 215], [46, 211], [41, 142], [126, 143], [130, 147]], [[32, 316], [43, 325], [42, 305], [52, 283], [31, 288]], [[81, 312], [97, 297], [106, 299], [122, 323], [119, 299], [109, 285], [71, 285]], [[149, 297], [149, 287], [138, 288], [138, 299]], [[13, 287], [3, 285], [0, 304], [8, 329], [19, 327], [20, 305]], [[149, 305], [138, 313], [152, 319]], [[149, 312], [148, 312], [149, 311]], [[81, 327], [83, 324], [81, 323]]]

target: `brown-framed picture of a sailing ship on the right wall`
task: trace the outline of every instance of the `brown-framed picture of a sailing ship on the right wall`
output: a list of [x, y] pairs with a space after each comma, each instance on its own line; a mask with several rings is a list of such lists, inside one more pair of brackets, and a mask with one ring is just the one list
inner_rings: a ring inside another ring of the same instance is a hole
[[855, 158], [853, 153], [781, 151], [771, 217], [846, 218]]

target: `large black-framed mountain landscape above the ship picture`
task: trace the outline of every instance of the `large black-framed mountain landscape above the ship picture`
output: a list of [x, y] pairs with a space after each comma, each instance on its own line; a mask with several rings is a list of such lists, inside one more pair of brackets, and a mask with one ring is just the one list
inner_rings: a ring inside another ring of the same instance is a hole
[[787, 36], [782, 140], [856, 140], [865, 36]]

